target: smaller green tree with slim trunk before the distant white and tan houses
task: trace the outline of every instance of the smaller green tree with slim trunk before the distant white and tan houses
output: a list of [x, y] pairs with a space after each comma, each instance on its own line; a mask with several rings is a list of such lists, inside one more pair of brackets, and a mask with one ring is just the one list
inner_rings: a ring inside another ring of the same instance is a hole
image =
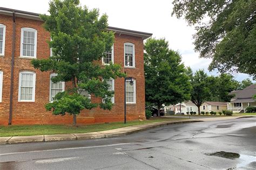
[[194, 73], [191, 84], [191, 101], [196, 104], [198, 115], [200, 115], [200, 106], [207, 100], [211, 92], [209, 88], [209, 79], [204, 70], [198, 70]]

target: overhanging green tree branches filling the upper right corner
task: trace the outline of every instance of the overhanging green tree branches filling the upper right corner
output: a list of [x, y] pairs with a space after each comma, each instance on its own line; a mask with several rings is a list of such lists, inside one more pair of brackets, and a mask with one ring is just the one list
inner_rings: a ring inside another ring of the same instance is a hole
[[174, 0], [173, 5], [172, 15], [196, 25], [195, 49], [213, 59], [210, 70], [256, 76], [255, 0]]

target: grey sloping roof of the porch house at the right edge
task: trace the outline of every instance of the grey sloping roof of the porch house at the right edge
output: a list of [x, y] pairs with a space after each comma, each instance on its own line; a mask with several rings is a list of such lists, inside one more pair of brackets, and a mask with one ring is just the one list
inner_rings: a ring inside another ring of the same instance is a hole
[[252, 84], [243, 90], [232, 91], [230, 94], [235, 94], [231, 103], [254, 102], [252, 96], [256, 94], [256, 84]]

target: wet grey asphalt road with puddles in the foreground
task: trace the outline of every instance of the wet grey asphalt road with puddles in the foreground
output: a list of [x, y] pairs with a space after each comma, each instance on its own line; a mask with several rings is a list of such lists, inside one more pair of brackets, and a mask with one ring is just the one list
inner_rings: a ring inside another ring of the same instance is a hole
[[[220, 151], [239, 158], [211, 155]], [[0, 169], [228, 168], [256, 169], [256, 118], [167, 125], [119, 138], [0, 145]]]

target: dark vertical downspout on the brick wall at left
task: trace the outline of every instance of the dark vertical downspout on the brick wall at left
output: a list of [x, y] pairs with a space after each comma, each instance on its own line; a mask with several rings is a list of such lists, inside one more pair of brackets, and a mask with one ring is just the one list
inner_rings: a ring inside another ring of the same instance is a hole
[[9, 109], [9, 123], [11, 125], [12, 119], [12, 98], [14, 96], [14, 52], [15, 52], [15, 12], [12, 12], [12, 52], [11, 52], [11, 86], [10, 86], [10, 109]]

